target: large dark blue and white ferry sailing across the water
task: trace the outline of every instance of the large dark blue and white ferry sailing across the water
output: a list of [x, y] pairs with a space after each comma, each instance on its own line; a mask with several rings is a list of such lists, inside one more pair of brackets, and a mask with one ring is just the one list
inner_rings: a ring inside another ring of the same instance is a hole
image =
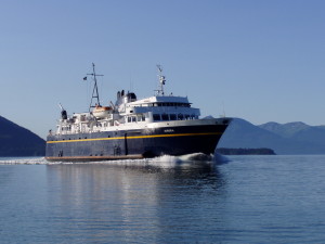
[[70, 116], [61, 106], [56, 131], [49, 131], [46, 158], [50, 162], [135, 159], [161, 155], [213, 154], [231, 118], [200, 118], [186, 97], [166, 95], [166, 77], [158, 67], [158, 89], [153, 97], [117, 92], [108, 106], [100, 103], [95, 65], [89, 112]]

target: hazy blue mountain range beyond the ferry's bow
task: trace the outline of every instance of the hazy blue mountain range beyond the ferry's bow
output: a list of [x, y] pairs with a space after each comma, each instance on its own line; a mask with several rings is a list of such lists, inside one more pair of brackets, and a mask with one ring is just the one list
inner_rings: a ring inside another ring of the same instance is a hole
[[301, 121], [255, 126], [234, 118], [218, 147], [268, 147], [276, 154], [325, 154], [325, 126], [309, 126]]

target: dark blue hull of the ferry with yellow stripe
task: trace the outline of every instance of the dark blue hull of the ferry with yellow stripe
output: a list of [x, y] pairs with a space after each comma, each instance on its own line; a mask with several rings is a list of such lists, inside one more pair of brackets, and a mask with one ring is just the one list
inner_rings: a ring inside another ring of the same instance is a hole
[[211, 154], [227, 125], [162, 127], [49, 136], [48, 160], [89, 162], [191, 153]]

